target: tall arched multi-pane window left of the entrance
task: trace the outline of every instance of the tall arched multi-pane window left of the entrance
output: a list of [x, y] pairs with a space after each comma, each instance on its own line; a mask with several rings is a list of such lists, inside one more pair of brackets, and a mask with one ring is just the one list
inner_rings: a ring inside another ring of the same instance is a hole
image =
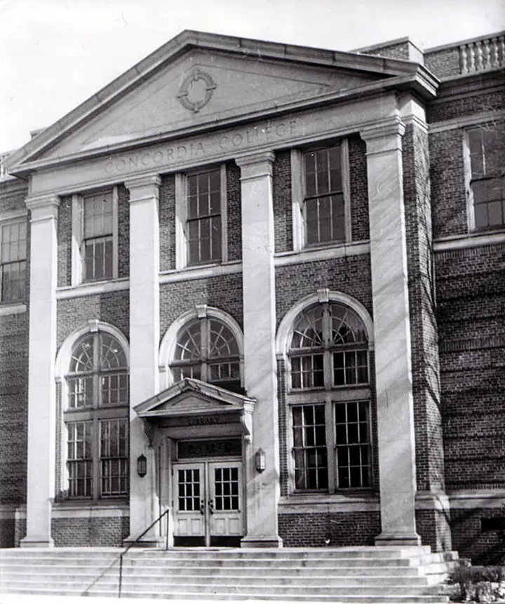
[[119, 340], [95, 329], [72, 347], [65, 375], [68, 496], [128, 493], [128, 362]]

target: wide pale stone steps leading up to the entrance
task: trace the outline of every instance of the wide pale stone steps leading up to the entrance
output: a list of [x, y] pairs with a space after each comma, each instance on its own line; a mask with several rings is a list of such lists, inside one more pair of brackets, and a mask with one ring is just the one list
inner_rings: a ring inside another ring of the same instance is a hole
[[[0, 550], [0, 593], [117, 596], [121, 549]], [[131, 549], [122, 596], [360, 604], [447, 602], [457, 561], [429, 548]]]

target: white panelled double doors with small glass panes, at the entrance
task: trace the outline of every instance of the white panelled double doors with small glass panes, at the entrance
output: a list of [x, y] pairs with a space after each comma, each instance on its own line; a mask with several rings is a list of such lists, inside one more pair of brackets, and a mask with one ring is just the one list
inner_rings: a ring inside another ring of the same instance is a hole
[[175, 546], [239, 546], [242, 462], [174, 463], [173, 511]]

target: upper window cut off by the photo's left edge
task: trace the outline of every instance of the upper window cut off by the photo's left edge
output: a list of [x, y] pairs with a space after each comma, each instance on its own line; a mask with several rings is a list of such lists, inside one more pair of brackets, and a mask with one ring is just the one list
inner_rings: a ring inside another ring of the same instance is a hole
[[26, 220], [0, 226], [0, 302], [18, 302], [25, 298]]

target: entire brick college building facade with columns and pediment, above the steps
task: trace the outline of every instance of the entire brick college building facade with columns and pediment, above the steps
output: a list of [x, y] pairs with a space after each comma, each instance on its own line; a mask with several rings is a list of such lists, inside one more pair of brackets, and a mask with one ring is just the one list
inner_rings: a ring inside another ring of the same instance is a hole
[[183, 32], [4, 156], [0, 545], [502, 556], [504, 53]]

